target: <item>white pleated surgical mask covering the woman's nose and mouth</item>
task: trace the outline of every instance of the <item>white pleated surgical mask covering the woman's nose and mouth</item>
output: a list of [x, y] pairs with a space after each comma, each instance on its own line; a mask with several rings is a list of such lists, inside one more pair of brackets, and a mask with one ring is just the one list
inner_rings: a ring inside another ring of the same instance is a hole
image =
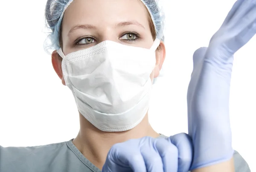
[[104, 41], [63, 58], [62, 71], [79, 112], [99, 130], [126, 131], [148, 111], [156, 39], [150, 49]]

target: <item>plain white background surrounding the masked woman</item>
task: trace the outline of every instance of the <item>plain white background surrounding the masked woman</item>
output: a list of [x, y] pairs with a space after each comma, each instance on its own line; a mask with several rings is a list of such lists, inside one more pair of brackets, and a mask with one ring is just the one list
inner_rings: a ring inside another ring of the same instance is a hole
[[[44, 52], [47, 0], [4, 0], [0, 10], [0, 145], [35, 146], [76, 137], [70, 90]], [[166, 11], [164, 77], [154, 85], [150, 122], [165, 135], [187, 132], [186, 92], [192, 54], [207, 46], [235, 0], [162, 0]], [[235, 55], [230, 94], [233, 148], [255, 165], [256, 37]]]

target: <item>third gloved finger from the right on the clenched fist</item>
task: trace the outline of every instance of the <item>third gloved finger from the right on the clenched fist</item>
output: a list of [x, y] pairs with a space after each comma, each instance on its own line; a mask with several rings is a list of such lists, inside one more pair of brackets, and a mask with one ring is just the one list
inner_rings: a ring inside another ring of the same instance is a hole
[[141, 147], [141, 155], [144, 158], [147, 172], [164, 172], [162, 158], [157, 149], [154, 149], [154, 144], [157, 140], [158, 139], [154, 139], [154, 141], [150, 141], [148, 145], [145, 144]]

